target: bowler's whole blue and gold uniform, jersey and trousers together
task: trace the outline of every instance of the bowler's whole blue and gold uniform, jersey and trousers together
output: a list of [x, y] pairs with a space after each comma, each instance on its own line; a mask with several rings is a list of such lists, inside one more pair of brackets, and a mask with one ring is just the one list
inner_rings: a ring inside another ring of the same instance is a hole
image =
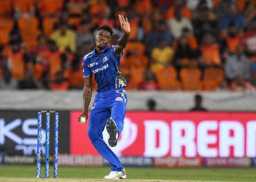
[[126, 110], [127, 85], [124, 75], [120, 72], [120, 55], [114, 52], [116, 46], [107, 46], [100, 55], [94, 50], [83, 58], [83, 76], [95, 75], [98, 84], [88, 124], [88, 136], [101, 156], [112, 165], [111, 171], [122, 171], [123, 166], [115, 153], [103, 140], [102, 132], [110, 117], [115, 121], [118, 136], [123, 130]]

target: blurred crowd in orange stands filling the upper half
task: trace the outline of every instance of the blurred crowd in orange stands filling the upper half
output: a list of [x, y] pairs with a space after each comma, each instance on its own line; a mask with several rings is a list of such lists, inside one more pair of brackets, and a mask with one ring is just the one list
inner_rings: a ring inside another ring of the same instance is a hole
[[[98, 27], [121, 58], [128, 90], [246, 91], [256, 86], [255, 0], [1, 0], [0, 89], [83, 88]], [[93, 79], [93, 89], [97, 85]]]

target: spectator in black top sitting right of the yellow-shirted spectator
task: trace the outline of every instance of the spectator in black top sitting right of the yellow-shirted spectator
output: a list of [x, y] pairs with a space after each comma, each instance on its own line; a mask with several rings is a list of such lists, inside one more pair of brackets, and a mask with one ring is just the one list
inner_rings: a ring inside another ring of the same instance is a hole
[[198, 65], [196, 51], [189, 46], [188, 39], [185, 36], [180, 37], [178, 40], [173, 63], [178, 70], [185, 66], [191, 67]]

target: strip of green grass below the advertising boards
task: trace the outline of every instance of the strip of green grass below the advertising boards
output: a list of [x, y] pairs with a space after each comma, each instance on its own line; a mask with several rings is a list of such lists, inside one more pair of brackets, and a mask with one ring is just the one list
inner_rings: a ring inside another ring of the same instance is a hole
[[[256, 181], [256, 168], [142, 168], [126, 167], [127, 179]], [[50, 176], [53, 177], [53, 166]], [[110, 167], [59, 167], [59, 178], [103, 178]], [[41, 168], [44, 176], [44, 165]], [[0, 178], [35, 178], [36, 165], [0, 165]]]

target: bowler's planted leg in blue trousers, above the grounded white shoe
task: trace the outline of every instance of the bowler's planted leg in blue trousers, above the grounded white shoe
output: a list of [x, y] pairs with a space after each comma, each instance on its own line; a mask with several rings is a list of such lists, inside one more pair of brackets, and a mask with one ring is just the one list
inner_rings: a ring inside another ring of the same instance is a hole
[[[99, 105], [100, 103], [98, 102], [96, 107]], [[106, 122], [111, 115], [110, 110], [97, 109], [96, 107], [90, 112], [87, 134], [95, 149], [112, 165], [112, 171], [122, 171], [123, 166], [121, 162], [103, 140], [102, 135], [102, 132], [106, 126]]]

